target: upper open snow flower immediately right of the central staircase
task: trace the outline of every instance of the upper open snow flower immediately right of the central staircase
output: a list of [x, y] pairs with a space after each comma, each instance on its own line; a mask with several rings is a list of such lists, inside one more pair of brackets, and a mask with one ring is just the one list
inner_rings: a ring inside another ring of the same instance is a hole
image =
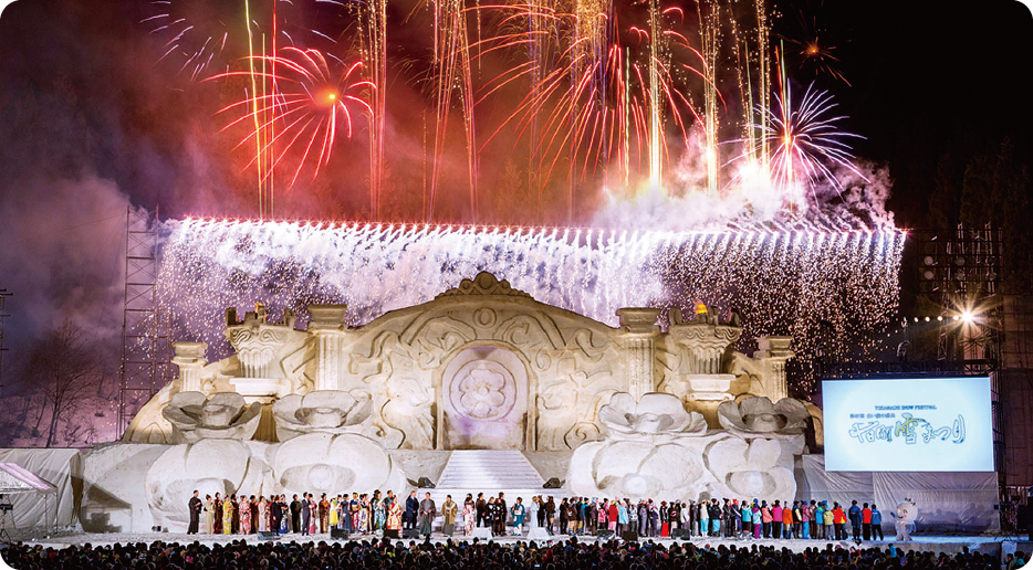
[[627, 392], [617, 392], [599, 410], [599, 422], [614, 439], [671, 439], [707, 433], [707, 420], [687, 412], [677, 395], [651, 392], [635, 401]]

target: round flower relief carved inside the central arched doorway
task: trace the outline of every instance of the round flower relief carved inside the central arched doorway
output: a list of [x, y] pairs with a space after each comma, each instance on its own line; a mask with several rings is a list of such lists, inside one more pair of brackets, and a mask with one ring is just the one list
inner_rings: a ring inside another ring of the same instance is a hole
[[509, 370], [498, 362], [474, 360], [456, 376], [452, 403], [462, 413], [478, 420], [492, 420], [513, 409], [516, 387]]

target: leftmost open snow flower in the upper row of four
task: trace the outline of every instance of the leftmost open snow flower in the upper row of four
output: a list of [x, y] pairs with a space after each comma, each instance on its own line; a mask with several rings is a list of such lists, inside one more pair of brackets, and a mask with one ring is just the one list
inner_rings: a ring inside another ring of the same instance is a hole
[[248, 405], [237, 392], [178, 392], [169, 398], [161, 415], [173, 424], [171, 443], [196, 443], [204, 439], [250, 440], [258, 430], [262, 404]]

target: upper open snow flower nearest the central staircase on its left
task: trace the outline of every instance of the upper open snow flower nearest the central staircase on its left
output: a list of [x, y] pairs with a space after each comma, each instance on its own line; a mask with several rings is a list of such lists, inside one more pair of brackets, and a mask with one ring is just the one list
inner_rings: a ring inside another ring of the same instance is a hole
[[311, 432], [340, 434], [356, 431], [372, 411], [368, 398], [356, 399], [340, 390], [291, 394], [276, 400], [272, 407], [276, 437], [281, 442]]

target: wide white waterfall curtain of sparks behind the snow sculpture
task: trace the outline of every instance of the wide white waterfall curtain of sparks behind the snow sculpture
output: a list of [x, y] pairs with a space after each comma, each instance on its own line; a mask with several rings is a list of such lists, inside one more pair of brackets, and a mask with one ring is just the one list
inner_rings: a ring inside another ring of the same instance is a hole
[[206, 341], [216, 355], [228, 349], [219, 317], [227, 306], [346, 303], [348, 324], [362, 325], [492, 271], [543, 303], [611, 325], [619, 307], [703, 299], [747, 315], [744, 337], [792, 335], [806, 358], [821, 320], [833, 324], [832, 350], [889, 318], [905, 238], [775, 224], [664, 232], [199, 219], [166, 222], [164, 232], [158, 296], [174, 336]]

